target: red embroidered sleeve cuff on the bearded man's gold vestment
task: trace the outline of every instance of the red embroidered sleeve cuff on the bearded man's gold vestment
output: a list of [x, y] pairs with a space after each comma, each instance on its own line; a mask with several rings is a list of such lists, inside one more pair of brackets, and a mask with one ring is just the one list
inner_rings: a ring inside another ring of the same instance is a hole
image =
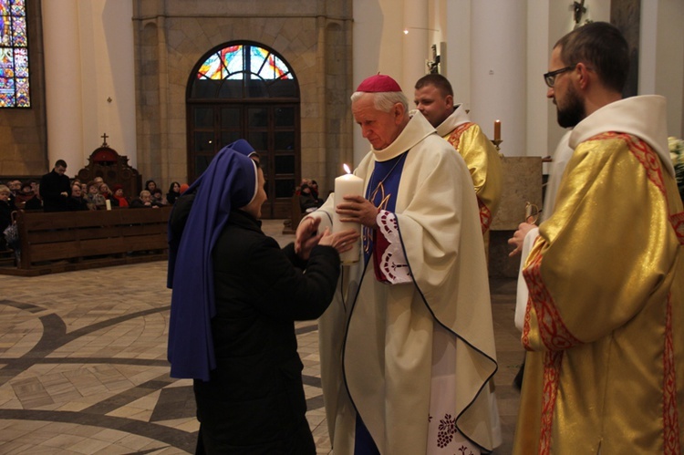
[[[523, 270], [527, 288], [530, 290], [530, 304], [534, 305], [534, 311], [537, 315], [539, 336], [541, 336], [544, 346], [551, 351], [559, 351], [580, 345], [582, 342], [575, 338], [567, 329], [563, 323], [563, 318], [554, 305], [554, 299], [549, 294], [546, 286], [544, 286], [541, 274], [542, 258], [541, 254], [537, 254], [533, 262]], [[529, 304], [527, 305], [525, 313], [530, 311], [530, 306]], [[523, 344], [525, 348], [532, 350], [532, 346], [529, 345], [529, 336], [527, 335], [527, 332], [529, 332], [528, 317], [529, 315], [525, 314]]]

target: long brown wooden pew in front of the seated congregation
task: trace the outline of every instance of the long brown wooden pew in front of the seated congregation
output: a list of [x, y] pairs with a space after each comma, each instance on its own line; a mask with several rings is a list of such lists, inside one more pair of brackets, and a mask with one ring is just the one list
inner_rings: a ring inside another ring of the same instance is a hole
[[24, 212], [17, 267], [0, 274], [36, 276], [166, 260], [171, 207], [84, 212]]

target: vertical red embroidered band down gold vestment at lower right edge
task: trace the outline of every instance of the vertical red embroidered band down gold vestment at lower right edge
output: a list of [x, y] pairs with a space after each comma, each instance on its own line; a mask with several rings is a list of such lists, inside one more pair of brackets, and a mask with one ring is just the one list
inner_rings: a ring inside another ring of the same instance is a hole
[[672, 336], [672, 295], [668, 295], [663, 351], [663, 453], [679, 454], [679, 415], [677, 412], [677, 368]]

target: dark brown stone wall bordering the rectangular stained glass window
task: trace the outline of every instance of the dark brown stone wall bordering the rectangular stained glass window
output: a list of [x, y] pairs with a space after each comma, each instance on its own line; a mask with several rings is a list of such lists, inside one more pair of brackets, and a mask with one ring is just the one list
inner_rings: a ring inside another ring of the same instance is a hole
[[26, 0], [31, 108], [0, 109], [0, 176], [48, 171], [45, 72], [39, 0]]

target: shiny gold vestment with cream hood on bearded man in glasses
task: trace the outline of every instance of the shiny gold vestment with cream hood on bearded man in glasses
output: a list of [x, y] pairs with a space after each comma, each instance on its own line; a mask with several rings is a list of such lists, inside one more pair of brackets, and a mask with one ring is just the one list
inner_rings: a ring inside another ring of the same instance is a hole
[[523, 272], [515, 454], [681, 452], [684, 213], [666, 135], [646, 119], [664, 123], [662, 98], [611, 103], [571, 136]]

